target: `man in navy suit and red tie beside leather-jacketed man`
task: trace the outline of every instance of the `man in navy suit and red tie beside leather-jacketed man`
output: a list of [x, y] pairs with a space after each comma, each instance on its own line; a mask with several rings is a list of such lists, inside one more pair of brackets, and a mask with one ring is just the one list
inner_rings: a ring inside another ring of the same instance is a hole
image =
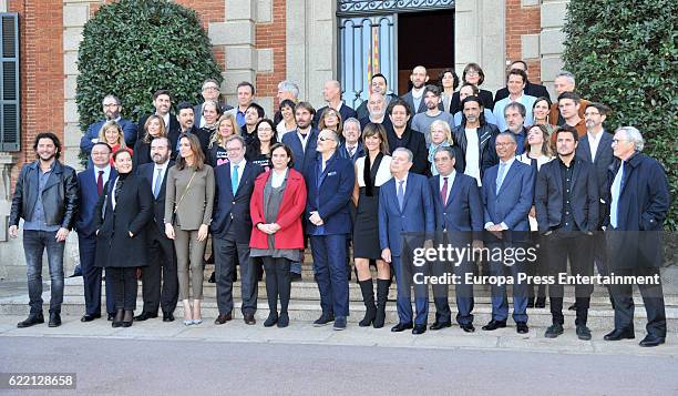
[[[96, 254], [94, 207], [109, 179], [115, 180], [117, 175], [109, 162], [111, 148], [106, 143], [94, 143], [91, 153], [92, 167], [78, 174], [80, 210], [75, 219], [75, 230], [78, 231], [78, 251], [85, 298], [85, 313], [80, 318], [82, 322], [92, 322], [101, 317], [101, 267], [94, 265]], [[106, 282], [106, 312], [109, 321], [112, 321], [115, 315], [115, 306], [111, 282]]]

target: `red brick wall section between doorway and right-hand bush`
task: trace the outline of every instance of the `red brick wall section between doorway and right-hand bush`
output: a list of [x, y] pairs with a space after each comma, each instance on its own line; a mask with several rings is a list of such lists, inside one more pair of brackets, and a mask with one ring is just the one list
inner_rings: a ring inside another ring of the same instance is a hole
[[[506, 59], [523, 59], [521, 35], [541, 32], [541, 7], [526, 6], [524, 0], [506, 0]], [[526, 60], [530, 81], [541, 82], [541, 62], [538, 59]]]

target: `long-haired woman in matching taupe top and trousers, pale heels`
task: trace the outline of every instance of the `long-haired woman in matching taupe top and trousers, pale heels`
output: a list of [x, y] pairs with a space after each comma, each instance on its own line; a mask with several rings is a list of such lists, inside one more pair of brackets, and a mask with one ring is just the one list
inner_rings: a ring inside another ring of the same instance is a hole
[[[179, 136], [179, 155], [167, 173], [165, 194], [165, 234], [174, 240], [179, 299], [184, 304], [186, 326], [203, 323], [203, 261], [207, 231], [212, 223], [214, 171], [205, 163], [205, 154], [195, 134]], [[192, 272], [193, 306], [188, 299]]]

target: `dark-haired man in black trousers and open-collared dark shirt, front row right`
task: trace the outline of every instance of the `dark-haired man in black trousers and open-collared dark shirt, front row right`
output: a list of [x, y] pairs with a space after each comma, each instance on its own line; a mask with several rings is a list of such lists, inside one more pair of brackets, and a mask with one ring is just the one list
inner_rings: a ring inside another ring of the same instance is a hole
[[[598, 184], [592, 163], [575, 156], [577, 131], [561, 126], [555, 132], [558, 158], [540, 170], [534, 206], [538, 231], [544, 235], [548, 275], [555, 284], [548, 286], [553, 325], [546, 329], [546, 338], [563, 334], [563, 284], [561, 273], [567, 273], [567, 262], [573, 275], [593, 275], [592, 242], [598, 227]], [[586, 327], [593, 285], [575, 285], [577, 317], [576, 333], [579, 339], [590, 339]]]

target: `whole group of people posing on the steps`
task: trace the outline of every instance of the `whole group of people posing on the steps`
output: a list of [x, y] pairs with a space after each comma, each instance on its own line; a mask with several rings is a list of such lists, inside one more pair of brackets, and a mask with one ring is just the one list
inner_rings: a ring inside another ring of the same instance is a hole
[[[242, 314], [255, 324], [258, 268], [264, 267], [269, 315], [264, 326], [286, 327], [291, 282], [300, 277], [310, 243], [321, 316], [316, 326], [347, 327], [349, 255], [364, 301], [360, 326], [383, 327], [394, 273], [399, 323], [392, 332], [422, 334], [451, 326], [449, 285], [434, 284], [435, 321], [429, 327], [427, 275], [475, 274], [481, 261], [454, 266], [413, 265], [414, 252], [434, 244], [515, 248], [538, 235], [538, 265], [502, 258], [482, 262], [485, 273], [507, 276], [571, 273], [658, 274], [660, 250], [630, 243], [624, 232], [661, 230], [669, 207], [661, 165], [641, 153], [633, 126], [614, 134], [603, 128], [609, 109], [583, 100], [574, 75], [555, 79], [557, 101], [527, 81], [526, 64], [512, 63], [506, 88], [493, 95], [480, 89], [484, 74], [470, 63], [459, 78], [452, 69], [441, 84], [427, 85], [427, 69], [411, 74], [402, 98], [388, 91], [382, 74], [357, 111], [341, 100], [338, 81], [323, 88], [327, 105], [298, 100], [290, 81], [278, 88], [271, 119], [254, 102], [255, 88], [237, 87], [236, 108], [220, 104], [219, 87], [206, 80], [204, 102], [179, 103], [171, 112], [168, 91], [156, 91], [154, 114], [137, 124], [120, 115], [114, 95], [103, 99], [105, 120], [84, 133], [89, 166], [75, 173], [61, 164], [59, 139], [40, 133], [38, 160], [17, 179], [10, 235], [23, 219], [31, 311], [19, 327], [43, 323], [41, 256], [47, 247], [51, 277], [50, 326], [61, 324], [63, 246], [78, 231], [86, 312], [101, 317], [102, 268], [106, 313], [114, 327], [131, 326], [163, 312], [174, 321], [181, 299], [185, 325], [203, 321], [204, 261], [212, 237], [217, 325], [233, 319], [233, 283], [240, 272]], [[130, 149], [133, 148], [133, 149]], [[605, 231], [605, 233], [603, 233]], [[619, 233], [616, 233], [619, 231]], [[624, 240], [624, 238], [627, 240]], [[656, 243], [646, 237], [644, 243]], [[655, 246], [656, 247], [656, 246]], [[371, 266], [376, 267], [377, 282]], [[143, 309], [134, 316], [141, 268]], [[648, 316], [643, 346], [664, 343], [666, 317], [661, 284], [638, 284]], [[412, 290], [414, 298], [412, 298]], [[474, 332], [473, 283], [456, 284], [456, 322]], [[586, 326], [592, 285], [575, 287], [576, 334]], [[631, 285], [609, 287], [615, 328], [605, 336], [633, 338]], [[482, 328], [505, 327], [506, 286], [493, 284], [492, 318]], [[551, 284], [553, 325], [546, 337], [563, 334], [562, 284]], [[412, 299], [414, 299], [412, 302]], [[412, 308], [414, 303], [414, 309]], [[544, 307], [546, 290], [513, 284], [513, 319], [528, 333], [527, 307]]]

